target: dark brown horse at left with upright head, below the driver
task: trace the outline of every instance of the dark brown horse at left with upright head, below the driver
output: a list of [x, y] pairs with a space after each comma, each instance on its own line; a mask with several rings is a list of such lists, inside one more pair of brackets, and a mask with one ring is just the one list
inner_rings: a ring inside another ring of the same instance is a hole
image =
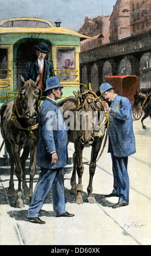
[[[18, 179], [18, 199], [16, 207], [23, 207], [22, 187], [24, 194], [32, 197], [32, 184], [35, 174], [35, 161], [38, 139], [38, 112], [41, 98], [41, 89], [37, 88], [40, 77], [36, 82], [29, 80], [22, 81], [24, 86], [19, 91], [15, 100], [6, 102], [1, 107], [1, 133], [5, 139], [6, 150], [9, 154], [11, 167], [8, 194], [15, 193], [14, 189], [14, 167], [16, 167], [16, 176]], [[20, 157], [21, 150], [22, 156]], [[25, 180], [25, 162], [30, 153], [30, 185], [27, 186]]]

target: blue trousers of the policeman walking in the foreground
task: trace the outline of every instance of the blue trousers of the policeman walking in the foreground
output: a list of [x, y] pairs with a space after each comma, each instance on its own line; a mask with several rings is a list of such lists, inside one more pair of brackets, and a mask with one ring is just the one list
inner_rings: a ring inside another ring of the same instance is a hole
[[28, 218], [38, 217], [43, 206], [44, 199], [52, 192], [53, 208], [55, 216], [64, 214], [65, 198], [64, 198], [64, 173], [63, 169], [45, 169], [41, 168], [39, 179], [32, 195], [31, 204], [28, 210]]

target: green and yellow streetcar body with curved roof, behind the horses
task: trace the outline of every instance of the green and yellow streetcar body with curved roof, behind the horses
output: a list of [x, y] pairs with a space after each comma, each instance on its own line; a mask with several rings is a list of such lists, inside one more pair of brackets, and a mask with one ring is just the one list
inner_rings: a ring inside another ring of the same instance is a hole
[[[80, 39], [89, 38], [71, 29], [53, 26], [37, 18], [14, 18], [0, 22], [0, 107], [14, 99], [21, 84], [27, 60], [35, 56], [40, 42], [49, 46], [47, 59], [63, 85], [63, 97], [80, 89]], [[43, 100], [43, 99], [42, 99]]]

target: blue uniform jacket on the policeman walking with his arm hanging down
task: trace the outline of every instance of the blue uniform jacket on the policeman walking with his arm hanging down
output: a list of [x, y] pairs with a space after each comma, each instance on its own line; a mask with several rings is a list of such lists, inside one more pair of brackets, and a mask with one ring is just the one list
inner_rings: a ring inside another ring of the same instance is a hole
[[[48, 169], [61, 168], [67, 165], [67, 127], [56, 102], [48, 97], [40, 107], [38, 127], [37, 165]], [[56, 151], [58, 156], [58, 161], [54, 165], [51, 164], [53, 151]]]

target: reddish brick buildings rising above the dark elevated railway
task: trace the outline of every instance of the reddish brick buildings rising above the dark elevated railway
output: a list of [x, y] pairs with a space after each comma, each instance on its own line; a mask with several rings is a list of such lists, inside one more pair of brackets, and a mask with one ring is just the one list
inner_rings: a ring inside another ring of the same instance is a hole
[[150, 24], [151, 0], [117, 0], [110, 16], [85, 18], [78, 32], [92, 39], [81, 41], [81, 51], [147, 32]]

